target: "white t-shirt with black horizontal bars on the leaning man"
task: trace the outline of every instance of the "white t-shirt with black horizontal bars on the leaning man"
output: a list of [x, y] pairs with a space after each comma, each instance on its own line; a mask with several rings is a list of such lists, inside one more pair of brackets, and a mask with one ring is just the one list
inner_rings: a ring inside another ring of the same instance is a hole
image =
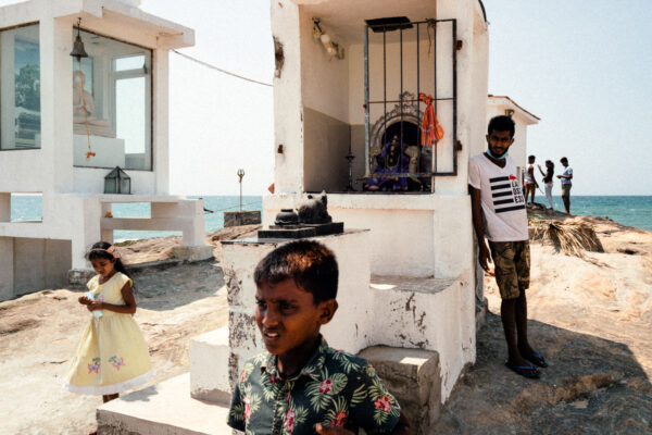
[[521, 241], [529, 238], [523, 189], [516, 165], [507, 157], [505, 167], [477, 154], [468, 159], [468, 184], [480, 190], [485, 235], [491, 241]]

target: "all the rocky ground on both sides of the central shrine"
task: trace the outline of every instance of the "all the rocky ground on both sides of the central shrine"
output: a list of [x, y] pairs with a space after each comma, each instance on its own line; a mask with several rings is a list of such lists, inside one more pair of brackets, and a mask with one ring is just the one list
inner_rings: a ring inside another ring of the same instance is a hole
[[[568, 217], [534, 212], [530, 219]], [[577, 258], [531, 245], [529, 330], [550, 368], [538, 381], [504, 368], [500, 297], [487, 277], [489, 311], [477, 362], [455, 386], [437, 433], [652, 434], [652, 233], [606, 217], [576, 220], [595, 229], [605, 252]], [[136, 273], [136, 320], [156, 370], [150, 384], [187, 371], [188, 339], [226, 324], [220, 240], [248, 237], [255, 228], [206, 236], [215, 261]], [[128, 262], [142, 263], [170, 258], [178, 243], [149, 239], [121, 249]], [[101, 399], [60, 386], [88, 319], [76, 302], [80, 291], [45, 290], [0, 302], [0, 433], [84, 434], [93, 427]]]

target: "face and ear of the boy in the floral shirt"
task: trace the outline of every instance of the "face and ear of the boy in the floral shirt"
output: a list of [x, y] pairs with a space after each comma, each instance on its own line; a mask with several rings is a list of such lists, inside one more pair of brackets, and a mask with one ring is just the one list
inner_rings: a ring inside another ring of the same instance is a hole
[[313, 350], [319, 327], [337, 310], [335, 299], [315, 304], [312, 294], [291, 278], [275, 285], [264, 283], [255, 290], [255, 321], [267, 351], [297, 358]]

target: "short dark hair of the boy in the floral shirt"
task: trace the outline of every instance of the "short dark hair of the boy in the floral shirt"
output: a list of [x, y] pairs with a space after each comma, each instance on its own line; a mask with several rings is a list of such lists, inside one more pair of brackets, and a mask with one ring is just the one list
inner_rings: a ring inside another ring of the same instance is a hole
[[337, 296], [338, 268], [330, 249], [314, 240], [283, 245], [265, 256], [255, 266], [258, 287], [294, 279], [297, 287], [313, 295], [315, 304]]

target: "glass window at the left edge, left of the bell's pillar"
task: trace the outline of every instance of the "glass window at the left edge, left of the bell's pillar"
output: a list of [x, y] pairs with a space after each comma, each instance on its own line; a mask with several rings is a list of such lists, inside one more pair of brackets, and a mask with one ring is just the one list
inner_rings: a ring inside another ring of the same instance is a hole
[[40, 148], [39, 27], [0, 32], [0, 149]]

